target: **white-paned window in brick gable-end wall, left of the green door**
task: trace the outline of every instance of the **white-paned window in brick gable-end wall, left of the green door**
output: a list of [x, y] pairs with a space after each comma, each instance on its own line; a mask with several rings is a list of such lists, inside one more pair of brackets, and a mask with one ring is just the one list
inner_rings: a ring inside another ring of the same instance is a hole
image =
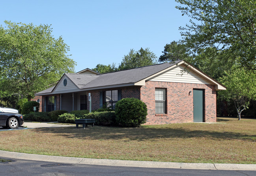
[[155, 113], [166, 113], [166, 89], [155, 89]]

